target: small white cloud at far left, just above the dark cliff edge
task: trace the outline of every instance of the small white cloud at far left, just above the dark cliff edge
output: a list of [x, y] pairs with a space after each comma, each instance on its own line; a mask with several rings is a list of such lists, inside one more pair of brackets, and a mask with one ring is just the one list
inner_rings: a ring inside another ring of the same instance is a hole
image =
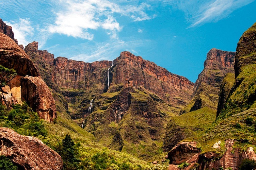
[[29, 18], [19, 18], [18, 21], [4, 21], [7, 25], [11, 26], [14, 32], [14, 38], [18, 40], [19, 44], [27, 45], [30, 43], [30, 38], [34, 35], [34, 28], [31, 26]]

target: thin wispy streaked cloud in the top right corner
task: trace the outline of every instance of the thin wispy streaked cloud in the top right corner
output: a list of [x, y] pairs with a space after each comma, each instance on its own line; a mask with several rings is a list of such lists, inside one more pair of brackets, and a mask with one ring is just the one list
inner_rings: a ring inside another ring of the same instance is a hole
[[227, 18], [238, 8], [255, 0], [163, 0], [162, 3], [182, 10], [190, 27]]

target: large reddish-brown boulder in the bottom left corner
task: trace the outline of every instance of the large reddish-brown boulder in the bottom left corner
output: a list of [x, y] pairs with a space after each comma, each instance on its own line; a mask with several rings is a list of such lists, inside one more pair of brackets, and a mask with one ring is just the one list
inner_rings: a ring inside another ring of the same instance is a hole
[[61, 170], [61, 156], [36, 137], [22, 136], [9, 128], [0, 128], [0, 153], [18, 169]]

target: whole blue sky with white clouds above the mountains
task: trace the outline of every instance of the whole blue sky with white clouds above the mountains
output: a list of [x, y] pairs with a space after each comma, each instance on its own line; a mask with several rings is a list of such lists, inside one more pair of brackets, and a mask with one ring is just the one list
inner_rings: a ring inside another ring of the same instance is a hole
[[195, 82], [211, 48], [235, 51], [256, 0], [1, 0], [19, 44], [93, 62], [122, 51]]

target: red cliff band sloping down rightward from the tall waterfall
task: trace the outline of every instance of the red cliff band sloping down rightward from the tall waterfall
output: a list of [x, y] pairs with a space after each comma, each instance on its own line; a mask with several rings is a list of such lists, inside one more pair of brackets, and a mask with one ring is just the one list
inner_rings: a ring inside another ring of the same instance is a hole
[[143, 60], [141, 56], [125, 51], [113, 61], [113, 64], [116, 72], [112, 82], [115, 84], [123, 83], [128, 87], [129, 81], [131, 87], [142, 86], [176, 106], [184, 105], [190, 99], [194, 87], [192, 82], [185, 77], [170, 73], [153, 62]]

